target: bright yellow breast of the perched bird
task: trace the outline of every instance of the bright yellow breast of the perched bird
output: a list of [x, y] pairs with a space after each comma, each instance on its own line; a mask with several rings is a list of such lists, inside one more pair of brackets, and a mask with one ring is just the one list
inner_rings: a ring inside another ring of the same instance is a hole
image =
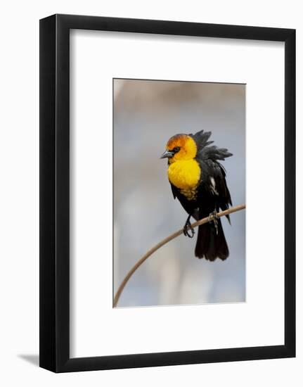
[[193, 191], [200, 180], [200, 166], [194, 159], [179, 160], [169, 165], [167, 175], [169, 182], [183, 192], [188, 191], [188, 194], [191, 192], [193, 196]]

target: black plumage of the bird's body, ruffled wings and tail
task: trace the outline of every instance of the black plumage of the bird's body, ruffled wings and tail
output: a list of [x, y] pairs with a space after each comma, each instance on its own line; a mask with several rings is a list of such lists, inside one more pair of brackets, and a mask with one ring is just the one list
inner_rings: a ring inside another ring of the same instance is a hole
[[[196, 134], [189, 134], [197, 145], [195, 160], [200, 166], [200, 181], [197, 186], [197, 194], [193, 200], [188, 200], [181, 190], [172, 183], [174, 198], [178, 198], [183, 208], [195, 220], [208, 217], [209, 214], [227, 210], [232, 205], [231, 194], [226, 184], [226, 170], [220, 161], [232, 156], [226, 148], [218, 148], [209, 141], [211, 132], [201, 130]], [[230, 222], [227, 215], [228, 222]], [[195, 246], [195, 256], [213, 261], [216, 258], [225, 260], [229, 255], [228, 246], [218, 218], [214, 221], [202, 224], [198, 228], [198, 238]]]

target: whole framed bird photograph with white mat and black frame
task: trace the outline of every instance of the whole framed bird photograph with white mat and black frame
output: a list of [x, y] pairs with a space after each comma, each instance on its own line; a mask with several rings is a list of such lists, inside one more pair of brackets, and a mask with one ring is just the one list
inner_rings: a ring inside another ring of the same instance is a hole
[[40, 20], [40, 366], [295, 356], [295, 30]]

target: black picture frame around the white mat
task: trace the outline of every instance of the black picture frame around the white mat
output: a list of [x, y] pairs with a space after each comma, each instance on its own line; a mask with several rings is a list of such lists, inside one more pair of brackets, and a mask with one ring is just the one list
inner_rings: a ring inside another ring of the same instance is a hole
[[[285, 43], [284, 345], [70, 358], [71, 29]], [[49, 16], [40, 20], [39, 123], [40, 367], [53, 372], [76, 372], [295, 357], [295, 30], [79, 15]]]

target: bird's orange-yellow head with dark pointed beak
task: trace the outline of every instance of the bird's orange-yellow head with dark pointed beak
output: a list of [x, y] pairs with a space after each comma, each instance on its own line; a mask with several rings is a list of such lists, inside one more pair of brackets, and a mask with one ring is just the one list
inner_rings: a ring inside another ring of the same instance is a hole
[[169, 164], [180, 160], [192, 160], [197, 154], [197, 146], [191, 136], [176, 134], [166, 144], [166, 151], [161, 158], [168, 158]]

